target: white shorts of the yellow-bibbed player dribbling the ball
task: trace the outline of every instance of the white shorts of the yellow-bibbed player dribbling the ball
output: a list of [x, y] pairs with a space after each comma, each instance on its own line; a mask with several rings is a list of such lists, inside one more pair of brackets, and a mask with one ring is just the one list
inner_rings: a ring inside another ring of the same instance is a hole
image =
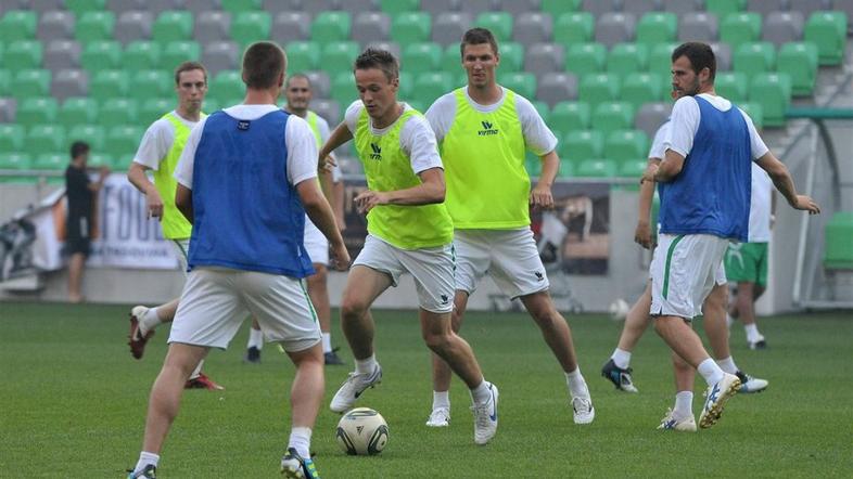
[[394, 286], [404, 272], [415, 277], [418, 306], [434, 313], [454, 309], [454, 246], [400, 249], [368, 234], [365, 247], [353, 261], [391, 276]]

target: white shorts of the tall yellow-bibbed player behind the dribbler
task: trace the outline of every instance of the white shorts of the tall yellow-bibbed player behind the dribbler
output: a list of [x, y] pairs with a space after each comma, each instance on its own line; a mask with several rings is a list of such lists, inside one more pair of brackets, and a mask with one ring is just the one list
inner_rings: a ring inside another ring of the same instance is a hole
[[510, 298], [548, 289], [550, 283], [533, 231], [456, 230], [456, 289], [474, 293], [488, 273]]

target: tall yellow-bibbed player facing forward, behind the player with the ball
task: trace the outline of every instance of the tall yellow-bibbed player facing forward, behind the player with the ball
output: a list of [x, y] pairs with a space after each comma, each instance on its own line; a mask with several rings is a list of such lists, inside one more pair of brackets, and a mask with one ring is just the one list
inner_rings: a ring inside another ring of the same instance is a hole
[[[468, 86], [451, 91], [426, 112], [446, 167], [447, 210], [454, 222], [456, 294], [454, 331], [468, 297], [488, 273], [510, 298], [520, 298], [565, 373], [576, 424], [595, 418], [589, 389], [569, 325], [555, 308], [548, 277], [530, 224], [530, 207], [552, 208], [551, 184], [560, 159], [557, 138], [530, 101], [497, 83], [498, 46], [485, 28], [472, 28], [460, 46]], [[542, 176], [531, 190], [524, 152], [542, 157]], [[426, 425], [450, 419], [450, 372], [433, 355], [433, 411]]]

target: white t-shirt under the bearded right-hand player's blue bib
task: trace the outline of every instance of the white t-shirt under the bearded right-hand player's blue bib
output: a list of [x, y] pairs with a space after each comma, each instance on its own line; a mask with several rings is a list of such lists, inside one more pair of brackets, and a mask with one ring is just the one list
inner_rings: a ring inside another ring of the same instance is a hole
[[[700, 94], [702, 99], [706, 100], [721, 112], [728, 112], [731, 108], [731, 102], [723, 96], [715, 96], [708, 93]], [[738, 108], [740, 109], [740, 108]], [[749, 117], [742, 109], [740, 114], [747, 121], [749, 128], [750, 145], [752, 150], [752, 159], [757, 159], [764, 156], [768, 150], [764, 141], [759, 137], [755, 131], [755, 126], [752, 124], [752, 118]], [[696, 132], [699, 131], [699, 103], [692, 96], [682, 96], [675, 102], [672, 113], [672, 126], [670, 127], [670, 134], [665, 140], [666, 150], [672, 150], [679, 155], [687, 157], [690, 150], [693, 147], [693, 138]]]

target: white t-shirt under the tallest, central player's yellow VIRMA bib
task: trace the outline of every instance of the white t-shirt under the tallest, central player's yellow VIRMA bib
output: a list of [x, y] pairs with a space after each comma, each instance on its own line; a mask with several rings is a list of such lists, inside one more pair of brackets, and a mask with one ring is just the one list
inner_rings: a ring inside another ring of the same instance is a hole
[[[464, 96], [468, 103], [478, 112], [492, 113], [504, 104], [506, 91], [500, 87], [500, 100], [491, 105], [481, 105], [471, 99], [468, 94], [468, 88], [464, 89]], [[548, 154], [557, 148], [557, 137], [545, 125], [545, 120], [539, 116], [539, 112], [533, 106], [527, 99], [515, 93], [515, 112], [518, 112], [519, 120], [521, 121], [521, 130], [524, 135], [524, 143], [526, 147], [537, 156]], [[438, 141], [444, 140], [444, 135], [450, 131], [450, 127], [456, 118], [456, 93], [446, 93], [438, 98], [435, 103], [426, 111], [426, 119], [430, 120], [435, 132], [435, 138]]]

